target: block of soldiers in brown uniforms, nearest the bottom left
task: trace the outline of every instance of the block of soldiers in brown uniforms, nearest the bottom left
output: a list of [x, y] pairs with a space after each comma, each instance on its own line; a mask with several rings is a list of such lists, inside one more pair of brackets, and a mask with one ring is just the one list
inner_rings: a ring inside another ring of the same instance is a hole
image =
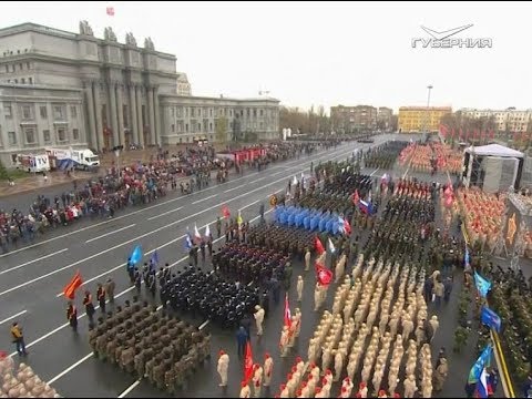
[[99, 318], [89, 334], [94, 356], [146, 378], [168, 393], [182, 387], [211, 356], [211, 336], [147, 303], [125, 301]]

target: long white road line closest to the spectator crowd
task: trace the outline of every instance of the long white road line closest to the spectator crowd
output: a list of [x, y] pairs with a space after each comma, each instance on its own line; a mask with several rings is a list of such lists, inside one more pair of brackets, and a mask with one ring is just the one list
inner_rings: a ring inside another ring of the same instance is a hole
[[[364, 146], [364, 145], [362, 145], [362, 146]], [[331, 150], [326, 150], [325, 154], [323, 154], [323, 155], [320, 155], [320, 156], [316, 156], [316, 157], [313, 156], [311, 160], [307, 160], [307, 163], [309, 163], [309, 161], [310, 161], [310, 162], [314, 162], [314, 161], [318, 161], [318, 160], [327, 156], [327, 155], [330, 153], [330, 151], [331, 151]], [[315, 155], [318, 155], [318, 154], [315, 154]], [[337, 157], [337, 156], [335, 156], [335, 157], [332, 157], [332, 158], [336, 158], [336, 157]], [[273, 170], [273, 168], [278, 168], [278, 167], [284, 167], [285, 171], [286, 171], [286, 170], [291, 170], [291, 168], [294, 168], [294, 167], [298, 167], [299, 165], [291, 166], [291, 167], [288, 167], [288, 168], [286, 168], [286, 166], [287, 166], [287, 165], [290, 165], [290, 164], [293, 164], [293, 163], [297, 163], [297, 162], [300, 162], [300, 161], [299, 161], [299, 160], [289, 161], [289, 162], [286, 162], [286, 163], [284, 163], [284, 164], [282, 164], [282, 165], [275, 165], [275, 166], [272, 166], [272, 167], [269, 167], [269, 168], [263, 170], [262, 172], [270, 171], [270, 170]], [[283, 172], [285, 172], [285, 171], [283, 171]], [[176, 198], [167, 200], [167, 201], [164, 201], [164, 202], [162, 202], [162, 203], [158, 203], [158, 204], [155, 204], [155, 205], [152, 205], [152, 206], [149, 206], [149, 207], [144, 207], [144, 208], [142, 208], [142, 209], [136, 209], [136, 211], [130, 212], [130, 213], [127, 213], [127, 214], [125, 214], [125, 215], [115, 216], [115, 217], [113, 217], [113, 218], [110, 218], [109, 221], [100, 222], [100, 223], [96, 223], [96, 224], [94, 224], [94, 225], [90, 225], [90, 226], [85, 226], [85, 227], [75, 229], [75, 231], [73, 231], [73, 232], [69, 232], [69, 233], [65, 233], [65, 234], [61, 234], [61, 235], [59, 235], [59, 236], [57, 236], [57, 237], [52, 237], [52, 238], [45, 239], [45, 241], [43, 241], [43, 242], [33, 244], [33, 245], [29, 245], [29, 246], [25, 246], [25, 247], [23, 247], [23, 248], [10, 250], [10, 252], [7, 253], [7, 254], [0, 255], [0, 258], [2, 258], [2, 257], [4, 257], [4, 256], [10, 256], [10, 255], [17, 254], [17, 253], [22, 252], [22, 250], [27, 250], [27, 249], [30, 249], [30, 248], [34, 248], [34, 247], [40, 246], [40, 245], [43, 245], [43, 244], [48, 244], [48, 243], [54, 242], [54, 241], [57, 241], [57, 239], [60, 239], [60, 238], [63, 238], [63, 237], [66, 237], [66, 236], [71, 236], [72, 234], [78, 234], [78, 233], [81, 233], [81, 232], [85, 232], [85, 231], [88, 231], [88, 229], [90, 229], [90, 228], [103, 226], [104, 224], [108, 224], [108, 223], [111, 223], [111, 222], [114, 222], [114, 221], [120, 221], [120, 219], [122, 219], [122, 218], [124, 218], [124, 217], [130, 217], [130, 216], [132, 216], [132, 215], [136, 215], [136, 214], [140, 214], [140, 213], [142, 213], [142, 212], [151, 211], [151, 209], [156, 208], [156, 207], [158, 207], [158, 206], [163, 206], [163, 205], [173, 203], [173, 202], [175, 202], [175, 201], [180, 201], [180, 200], [187, 198], [188, 196], [194, 196], [194, 195], [203, 194], [203, 193], [205, 193], [205, 192], [207, 192], [207, 191], [211, 191], [211, 190], [214, 190], [214, 188], [216, 188], [216, 187], [218, 187], [218, 186], [221, 186], [221, 185], [223, 185], [223, 184], [231, 184], [231, 183], [234, 183], [234, 182], [238, 182], [238, 181], [241, 181], [241, 180], [243, 180], [243, 178], [247, 178], [247, 177], [254, 176], [254, 175], [259, 174], [259, 173], [262, 173], [262, 172], [253, 172], [253, 173], [247, 174], [247, 175], [245, 175], [245, 176], [237, 177], [237, 178], [235, 178], [235, 180], [227, 181], [227, 182], [224, 182], [224, 183], [219, 183], [219, 184], [217, 184], [217, 185], [211, 186], [211, 187], [208, 187], [208, 188], [201, 190], [201, 191], [198, 191], [198, 192], [194, 192], [194, 193], [188, 194], [188, 195], [186, 195], [186, 196], [180, 196], [180, 197], [176, 197]], [[283, 173], [283, 172], [282, 172], [282, 173]], [[279, 173], [277, 173], [277, 174], [279, 174]], [[273, 175], [270, 175], [270, 176], [275, 176], [275, 175], [277, 175], [277, 174], [273, 174]]]

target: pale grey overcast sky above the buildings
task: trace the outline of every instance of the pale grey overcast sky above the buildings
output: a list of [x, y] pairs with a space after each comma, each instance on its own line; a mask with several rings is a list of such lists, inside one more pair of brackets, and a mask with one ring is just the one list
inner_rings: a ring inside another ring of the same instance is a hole
[[[105, 8], [113, 6], [114, 17]], [[532, 108], [532, 4], [4, 2], [0, 27], [35, 22], [72, 32], [86, 19], [177, 57], [193, 94], [323, 104]], [[413, 49], [412, 38], [473, 24], [454, 38], [491, 38], [491, 49]]]

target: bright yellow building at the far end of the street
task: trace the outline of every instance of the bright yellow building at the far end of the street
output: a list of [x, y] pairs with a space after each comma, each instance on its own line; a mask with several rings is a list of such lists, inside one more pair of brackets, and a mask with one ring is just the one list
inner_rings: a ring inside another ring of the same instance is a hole
[[398, 115], [399, 132], [438, 132], [441, 117], [448, 113], [452, 113], [450, 106], [401, 106]]

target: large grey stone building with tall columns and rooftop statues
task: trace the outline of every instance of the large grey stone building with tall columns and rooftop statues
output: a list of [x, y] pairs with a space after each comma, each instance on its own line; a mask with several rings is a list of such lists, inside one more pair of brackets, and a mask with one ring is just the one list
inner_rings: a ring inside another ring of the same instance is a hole
[[173, 54], [86, 21], [71, 33], [35, 23], [0, 29], [0, 160], [48, 146], [96, 151], [279, 136], [279, 101], [196, 98]]

